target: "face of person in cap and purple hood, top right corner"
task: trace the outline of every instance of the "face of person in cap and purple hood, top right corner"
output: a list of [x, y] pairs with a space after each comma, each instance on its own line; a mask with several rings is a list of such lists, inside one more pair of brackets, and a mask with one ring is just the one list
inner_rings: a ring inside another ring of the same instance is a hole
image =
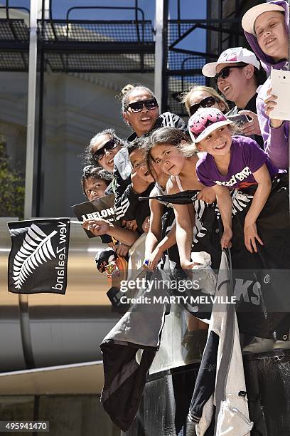
[[267, 11], [259, 15], [254, 24], [259, 47], [274, 61], [288, 58], [288, 36], [284, 14]]

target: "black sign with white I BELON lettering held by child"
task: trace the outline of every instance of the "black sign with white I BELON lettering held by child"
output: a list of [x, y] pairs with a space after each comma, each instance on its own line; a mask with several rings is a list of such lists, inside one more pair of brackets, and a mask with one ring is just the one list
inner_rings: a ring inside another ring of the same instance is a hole
[[[105, 219], [107, 222], [116, 222], [116, 215], [114, 213], [114, 194], [105, 195], [104, 197], [95, 199], [92, 202], [84, 202], [72, 206], [73, 212], [79, 221], [85, 219]], [[89, 230], [84, 229], [89, 238], [95, 238]], [[112, 237], [104, 234], [100, 237], [102, 242], [108, 244], [113, 242]]]

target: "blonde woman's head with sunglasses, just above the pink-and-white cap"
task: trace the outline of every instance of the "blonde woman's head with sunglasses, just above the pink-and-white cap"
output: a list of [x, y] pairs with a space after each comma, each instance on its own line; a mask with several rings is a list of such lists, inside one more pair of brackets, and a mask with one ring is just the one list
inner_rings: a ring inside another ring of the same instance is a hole
[[227, 113], [230, 108], [222, 96], [209, 86], [193, 85], [181, 95], [181, 103], [186, 105], [188, 115], [193, 115], [199, 108], [217, 108]]

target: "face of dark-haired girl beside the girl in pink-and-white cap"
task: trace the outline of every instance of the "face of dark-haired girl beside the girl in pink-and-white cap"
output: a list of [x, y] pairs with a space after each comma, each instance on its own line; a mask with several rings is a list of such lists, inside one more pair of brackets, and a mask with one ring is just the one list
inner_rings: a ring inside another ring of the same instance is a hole
[[186, 160], [175, 145], [168, 143], [154, 145], [151, 149], [151, 157], [155, 165], [167, 175], [178, 175]]

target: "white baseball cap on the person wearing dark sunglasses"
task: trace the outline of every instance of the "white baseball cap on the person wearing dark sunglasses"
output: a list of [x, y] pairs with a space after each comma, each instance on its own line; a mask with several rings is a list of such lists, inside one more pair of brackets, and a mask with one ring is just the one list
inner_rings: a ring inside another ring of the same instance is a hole
[[252, 51], [249, 51], [247, 48], [234, 47], [222, 51], [218, 61], [205, 63], [202, 69], [203, 76], [215, 77], [217, 66], [221, 63], [230, 64], [239, 62], [249, 63], [259, 70], [259, 61]]

